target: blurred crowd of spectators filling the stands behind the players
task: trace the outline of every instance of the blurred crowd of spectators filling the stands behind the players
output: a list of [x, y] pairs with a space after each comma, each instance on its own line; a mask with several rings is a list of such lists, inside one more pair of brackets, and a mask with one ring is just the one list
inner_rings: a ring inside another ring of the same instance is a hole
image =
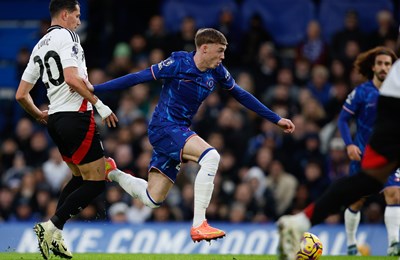
[[[107, 17], [100, 19], [103, 13], [95, 15], [98, 10], [89, 7], [93, 13], [89, 13], [82, 41], [93, 85], [144, 69], [173, 51], [195, 50], [198, 28], [192, 17], [182, 21], [178, 33], [165, 28], [159, 13], [120, 17], [110, 33]], [[348, 173], [349, 159], [336, 120], [347, 95], [364, 80], [352, 63], [360, 52], [378, 45], [395, 50], [398, 26], [393, 13], [382, 10], [377, 29], [367, 34], [359, 29], [357, 13], [349, 10], [345, 20], [338, 21], [343, 28], [331, 41], [322, 37], [324, 28], [319, 22], [311, 21], [303, 41], [278, 46], [263, 27], [262, 17], [252, 17], [246, 31], [235, 27], [234, 19], [230, 12], [223, 12], [215, 25], [229, 42], [224, 66], [238, 85], [282, 117], [291, 118], [296, 130], [284, 134], [242, 107], [227, 91], [212, 93], [192, 125], [221, 154], [207, 218], [272, 223], [283, 214], [302, 210], [332, 181]], [[29, 50], [21, 50], [19, 73], [28, 58]], [[119, 118], [115, 130], [97, 118], [106, 156], [113, 157], [121, 170], [145, 179], [152, 153], [147, 123], [161, 86], [162, 82], [155, 81], [99, 95]], [[40, 83], [32, 95], [44, 109], [47, 101]], [[74, 221], [190, 221], [197, 171], [197, 164], [182, 164], [177, 185], [157, 209], [147, 208], [109, 182], [106, 192]], [[46, 128], [21, 112], [14, 128], [2, 129], [0, 177], [0, 221], [40, 221], [54, 212], [56, 198], [71, 174]], [[378, 195], [370, 198], [362, 221], [382, 223], [383, 203]], [[327, 223], [341, 221], [341, 215], [327, 219]]]

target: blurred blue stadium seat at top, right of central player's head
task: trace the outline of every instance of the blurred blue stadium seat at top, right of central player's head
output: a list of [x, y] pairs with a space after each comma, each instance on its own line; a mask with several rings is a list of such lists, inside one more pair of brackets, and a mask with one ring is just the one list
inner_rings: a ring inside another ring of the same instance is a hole
[[246, 0], [241, 7], [243, 29], [259, 14], [265, 29], [281, 46], [294, 46], [305, 36], [307, 24], [315, 18], [311, 0]]

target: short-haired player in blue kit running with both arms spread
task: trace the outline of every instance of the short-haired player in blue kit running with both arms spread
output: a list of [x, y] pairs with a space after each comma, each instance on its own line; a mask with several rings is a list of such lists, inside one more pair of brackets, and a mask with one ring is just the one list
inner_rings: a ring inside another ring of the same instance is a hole
[[[212, 28], [200, 29], [195, 36], [195, 45], [194, 52], [173, 52], [166, 60], [147, 69], [94, 86], [94, 91], [126, 89], [142, 82], [164, 80], [159, 102], [148, 126], [153, 146], [148, 181], [124, 174], [111, 158], [106, 162], [106, 172], [109, 180], [118, 182], [130, 195], [151, 208], [157, 208], [172, 188], [180, 164], [197, 162], [200, 170], [194, 183], [194, 217], [190, 232], [196, 242], [225, 236], [224, 231], [211, 227], [206, 220], [220, 155], [190, 129], [201, 103], [219, 86], [285, 133], [292, 133], [295, 126], [235, 83], [222, 65], [228, 42], [221, 32]], [[89, 82], [87, 85], [93, 90]]]

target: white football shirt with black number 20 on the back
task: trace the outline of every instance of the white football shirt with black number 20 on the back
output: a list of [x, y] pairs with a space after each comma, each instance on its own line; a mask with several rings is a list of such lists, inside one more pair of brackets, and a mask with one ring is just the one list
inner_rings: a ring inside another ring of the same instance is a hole
[[47, 88], [49, 114], [92, 110], [77, 92], [71, 93], [64, 81], [63, 69], [77, 67], [79, 76], [87, 78], [85, 54], [75, 32], [61, 26], [51, 26], [32, 50], [22, 79], [35, 84], [41, 78]]

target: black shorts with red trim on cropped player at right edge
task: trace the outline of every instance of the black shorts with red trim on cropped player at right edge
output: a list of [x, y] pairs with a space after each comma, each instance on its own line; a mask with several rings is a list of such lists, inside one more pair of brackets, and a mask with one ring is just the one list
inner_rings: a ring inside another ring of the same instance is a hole
[[362, 161], [374, 169], [400, 159], [400, 99], [379, 96], [377, 118]]

